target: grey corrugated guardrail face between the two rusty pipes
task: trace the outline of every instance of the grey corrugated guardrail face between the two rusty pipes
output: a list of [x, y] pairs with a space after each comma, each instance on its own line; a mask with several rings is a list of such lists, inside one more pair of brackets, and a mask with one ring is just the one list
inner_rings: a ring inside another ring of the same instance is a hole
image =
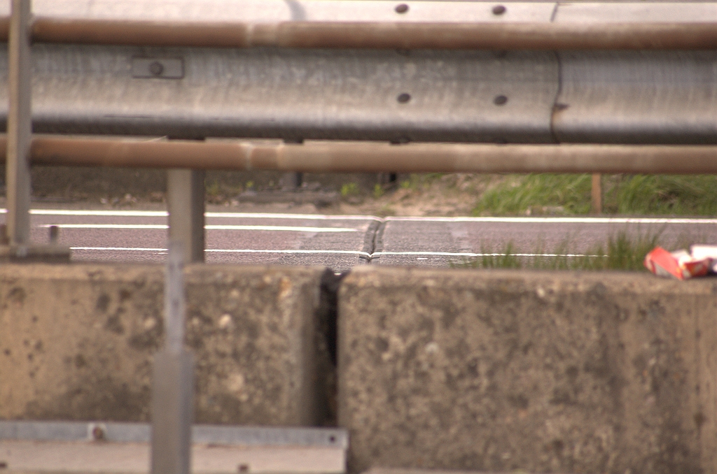
[[[717, 52], [35, 44], [36, 133], [714, 144]], [[4, 54], [0, 51], [0, 68]], [[152, 69], [156, 72], [152, 72]], [[6, 82], [0, 69], [0, 97]], [[0, 102], [0, 126], [6, 109]]]

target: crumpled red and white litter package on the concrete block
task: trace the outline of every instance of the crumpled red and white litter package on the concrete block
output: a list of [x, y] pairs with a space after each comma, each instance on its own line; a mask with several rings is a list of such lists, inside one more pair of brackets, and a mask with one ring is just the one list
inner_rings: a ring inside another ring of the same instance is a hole
[[685, 250], [668, 252], [655, 247], [645, 256], [645, 266], [655, 275], [674, 276], [680, 280], [705, 276], [717, 269], [717, 246], [693, 245], [690, 253]]

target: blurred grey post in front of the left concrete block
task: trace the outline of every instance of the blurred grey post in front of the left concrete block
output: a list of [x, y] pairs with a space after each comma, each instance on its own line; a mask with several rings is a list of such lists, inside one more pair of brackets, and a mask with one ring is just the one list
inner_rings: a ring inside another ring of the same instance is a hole
[[164, 347], [154, 357], [152, 474], [189, 474], [194, 357], [184, 349], [184, 248], [169, 242], [164, 276]]

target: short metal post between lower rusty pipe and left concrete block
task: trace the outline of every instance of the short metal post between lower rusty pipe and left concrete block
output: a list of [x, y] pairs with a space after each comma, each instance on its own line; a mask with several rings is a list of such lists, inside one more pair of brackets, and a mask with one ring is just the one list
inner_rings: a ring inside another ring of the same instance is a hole
[[184, 246], [184, 263], [204, 261], [204, 171], [168, 170], [169, 241]]

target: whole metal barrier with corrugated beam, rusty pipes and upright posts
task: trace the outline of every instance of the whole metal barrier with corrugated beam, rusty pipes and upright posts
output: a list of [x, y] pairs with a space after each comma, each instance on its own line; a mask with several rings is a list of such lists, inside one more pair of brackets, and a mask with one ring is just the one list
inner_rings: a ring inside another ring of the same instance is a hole
[[[202, 258], [204, 168], [717, 171], [714, 3], [207, 0], [198, 10], [183, 0], [37, 0], [34, 19], [28, 0], [11, 4], [0, 19], [9, 42], [0, 253], [63, 253], [29, 243], [31, 160], [186, 168], [168, 174], [170, 247], [184, 248], [171, 252], [168, 296], [182, 294], [181, 262]], [[470, 144], [33, 139], [33, 131]], [[166, 313], [181, 327], [181, 304]], [[179, 459], [189, 442], [191, 357], [171, 349], [154, 377], [166, 428], [153, 440], [163, 447], [153, 453], [156, 473], [188, 469]]]

